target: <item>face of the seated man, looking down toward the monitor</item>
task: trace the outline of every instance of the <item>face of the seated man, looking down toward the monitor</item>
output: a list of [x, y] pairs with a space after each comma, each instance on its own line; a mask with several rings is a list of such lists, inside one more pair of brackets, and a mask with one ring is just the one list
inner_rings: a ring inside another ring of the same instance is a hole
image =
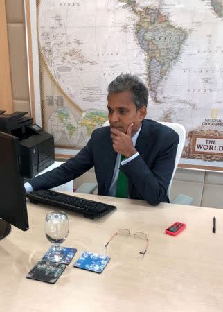
[[126, 133], [127, 127], [132, 125], [132, 136], [139, 130], [141, 121], [145, 118], [146, 107], [136, 110], [130, 91], [111, 93], [107, 97], [108, 118], [111, 128]]

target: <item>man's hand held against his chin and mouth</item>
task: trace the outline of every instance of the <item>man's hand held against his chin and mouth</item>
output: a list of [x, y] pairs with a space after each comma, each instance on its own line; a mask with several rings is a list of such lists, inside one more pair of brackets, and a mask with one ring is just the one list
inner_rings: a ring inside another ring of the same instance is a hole
[[113, 141], [113, 148], [117, 153], [124, 155], [126, 158], [131, 157], [137, 151], [132, 144], [132, 126], [130, 123], [127, 127], [126, 133], [111, 127], [111, 139]]

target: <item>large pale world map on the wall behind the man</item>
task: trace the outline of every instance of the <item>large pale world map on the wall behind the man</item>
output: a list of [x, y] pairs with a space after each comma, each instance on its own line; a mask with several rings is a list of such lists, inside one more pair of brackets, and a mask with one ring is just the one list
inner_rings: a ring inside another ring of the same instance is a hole
[[105, 123], [120, 73], [148, 86], [148, 118], [184, 125], [186, 146], [190, 131], [223, 131], [223, 0], [41, 0], [37, 21], [44, 125], [59, 146], [82, 148]]

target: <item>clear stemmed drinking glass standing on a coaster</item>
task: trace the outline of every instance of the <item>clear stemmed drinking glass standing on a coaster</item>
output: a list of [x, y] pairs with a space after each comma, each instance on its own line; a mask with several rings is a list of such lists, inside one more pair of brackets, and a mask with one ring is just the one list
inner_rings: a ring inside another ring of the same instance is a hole
[[46, 214], [45, 219], [45, 234], [48, 241], [53, 244], [52, 252], [55, 261], [60, 255], [63, 243], [69, 233], [69, 221], [66, 214], [62, 211], [51, 211]]

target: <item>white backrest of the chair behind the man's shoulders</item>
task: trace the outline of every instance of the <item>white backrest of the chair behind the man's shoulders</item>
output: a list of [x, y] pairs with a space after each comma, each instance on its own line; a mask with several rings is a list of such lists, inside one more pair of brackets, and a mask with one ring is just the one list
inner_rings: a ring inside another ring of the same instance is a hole
[[[173, 180], [173, 177], [174, 177], [175, 172], [177, 170], [177, 165], [179, 164], [179, 159], [181, 158], [182, 150], [184, 148], [186, 131], [185, 131], [184, 125], [181, 125], [180, 123], [166, 123], [163, 121], [159, 121], [159, 123], [161, 123], [162, 125], [166, 125], [167, 127], [171, 128], [172, 130], [175, 130], [175, 132], [177, 132], [177, 135], [179, 135], [179, 144], [177, 146], [177, 154], [176, 154], [176, 158], [175, 158], [175, 168], [172, 171], [172, 177], [171, 177], [170, 184], [168, 186], [168, 191], [167, 191], [167, 195], [168, 195], [168, 197], [170, 197], [172, 180]], [[109, 125], [108, 120], [105, 121], [105, 123], [102, 126], [105, 127], [107, 125]]]

